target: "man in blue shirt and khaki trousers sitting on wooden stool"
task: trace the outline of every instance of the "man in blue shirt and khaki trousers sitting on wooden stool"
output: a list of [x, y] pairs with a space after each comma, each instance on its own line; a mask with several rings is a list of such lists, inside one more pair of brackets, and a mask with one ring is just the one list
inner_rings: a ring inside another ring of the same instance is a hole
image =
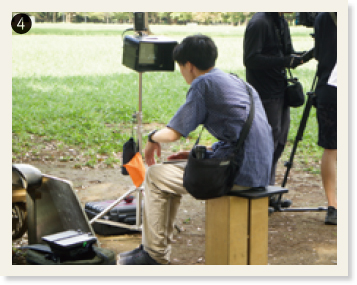
[[[219, 142], [207, 153], [209, 158], [225, 159], [233, 152], [250, 110], [246, 84], [235, 75], [215, 67], [217, 47], [207, 36], [185, 38], [173, 52], [184, 79], [190, 84], [186, 102], [167, 127], [152, 131], [145, 147], [150, 166], [145, 178], [143, 236], [140, 247], [119, 255], [120, 265], [161, 265], [170, 263], [174, 220], [183, 187], [183, 173], [188, 152], [168, 157], [174, 163], [155, 164], [155, 152], [161, 155], [160, 143], [187, 137], [200, 124]], [[258, 93], [248, 85], [255, 102], [255, 116], [245, 140], [244, 157], [235, 177], [234, 190], [265, 187], [269, 184], [273, 159], [273, 138]]]

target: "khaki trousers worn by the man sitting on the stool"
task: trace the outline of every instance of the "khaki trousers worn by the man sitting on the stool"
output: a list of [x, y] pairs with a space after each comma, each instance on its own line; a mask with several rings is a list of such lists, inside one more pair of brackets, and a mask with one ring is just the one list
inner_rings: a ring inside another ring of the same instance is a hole
[[[185, 162], [155, 164], [146, 173], [142, 243], [161, 264], [170, 261], [175, 217], [182, 195], [188, 193], [183, 187], [185, 166]], [[235, 185], [233, 190], [248, 188]]]

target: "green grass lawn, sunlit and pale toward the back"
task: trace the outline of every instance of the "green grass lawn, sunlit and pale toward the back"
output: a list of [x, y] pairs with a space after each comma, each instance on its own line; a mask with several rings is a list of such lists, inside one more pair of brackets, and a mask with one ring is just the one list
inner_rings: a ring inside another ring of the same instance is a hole
[[[96, 163], [97, 154], [106, 155], [109, 165], [118, 163], [112, 153], [121, 151], [130, 137], [131, 116], [138, 108], [138, 73], [121, 64], [122, 34], [130, 27], [36, 24], [27, 34], [13, 34], [14, 162], [26, 153], [41, 152], [46, 141], [56, 141], [58, 147], [81, 149], [88, 165]], [[152, 25], [150, 28], [157, 35], [166, 35], [179, 42], [196, 33], [211, 36], [218, 46], [217, 67], [245, 78], [244, 27]], [[292, 27], [291, 32], [296, 50], [313, 46], [309, 35], [312, 29]], [[311, 88], [315, 68], [316, 61], [311, 60], [293, 71], [305, 91]], [[178, 68], [174, 72], [144, 73], [144, 123], [167, 123], [184, 102], [188, 88]], [[291, 109], [289, 145], [294, 141], [302, 111], [303, 108]], [[214, 140], [207, 133], [203, 139], [206, 143]], [[313, 109], [296, 158], [306, 169], [318, 172], [314, 165], [321, 150], [316, 141]], [[185, 140], [185, 143], [191, 146], [191, 141]], [[284, 159], [289, 155], [290, 147], [287, 147]]]

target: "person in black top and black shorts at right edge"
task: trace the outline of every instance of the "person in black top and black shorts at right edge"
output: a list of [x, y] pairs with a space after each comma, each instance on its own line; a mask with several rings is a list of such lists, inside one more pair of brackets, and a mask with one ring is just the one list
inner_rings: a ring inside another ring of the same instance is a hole
[[337, 13], [320, 13], [316, 18], [315, 58], [318, 145], [324, 148], [321, 178], [328, 201], [325, 224], [337, 225]]

